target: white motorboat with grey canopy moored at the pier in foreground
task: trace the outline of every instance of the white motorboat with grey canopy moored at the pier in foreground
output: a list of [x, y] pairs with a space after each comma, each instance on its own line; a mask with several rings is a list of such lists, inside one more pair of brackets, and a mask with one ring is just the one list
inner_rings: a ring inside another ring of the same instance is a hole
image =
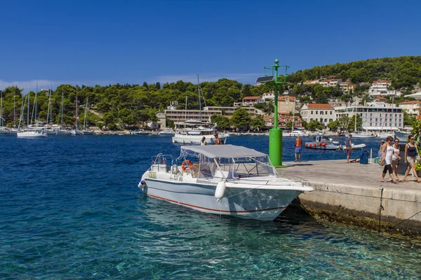
[[[198, 211], [273, 221], [307, 181], [282, 178], [269, 157], [242, 146], [182, 146], [181, 166], [159, 154], [142, 175], [145, 195]], [[195, 162], [192, 163], [190, 159]]]

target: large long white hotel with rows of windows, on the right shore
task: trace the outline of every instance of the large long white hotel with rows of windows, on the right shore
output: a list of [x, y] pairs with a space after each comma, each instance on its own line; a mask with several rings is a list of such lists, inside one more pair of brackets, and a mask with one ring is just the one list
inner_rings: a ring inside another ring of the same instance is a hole
[[[340, 106], [335, 107], [335, 118], [338, 120], [341, 115], [349, 118], [359, 114], [363, 121], [362, 129], [369, 131], [379, 130], [401, 130], [403, 128], [403, 111], [399, 107], [386, 106]], [[360, 127], [356, 127], [359, 130]]]

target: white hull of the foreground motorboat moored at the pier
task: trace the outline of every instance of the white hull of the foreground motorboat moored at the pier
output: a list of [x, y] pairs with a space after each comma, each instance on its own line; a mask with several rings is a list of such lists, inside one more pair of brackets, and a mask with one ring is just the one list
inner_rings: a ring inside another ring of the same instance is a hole
[[209, 214], [273, 221], [300, 195], [300, 190], [227, 188], [225, 197], [215, 199], [215, 185], [173, 183], [146, 179], [145, 195]]

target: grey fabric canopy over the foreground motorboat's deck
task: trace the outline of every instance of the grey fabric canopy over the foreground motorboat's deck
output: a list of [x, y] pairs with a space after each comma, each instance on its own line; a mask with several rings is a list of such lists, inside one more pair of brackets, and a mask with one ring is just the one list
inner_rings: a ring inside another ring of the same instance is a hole
[[235, 145], [181, 146], [180, 158], [185, 155], [194, 155], [196, 157], [204, 155], [208, 158], [250, 158], [267, 156], [265, 153]]

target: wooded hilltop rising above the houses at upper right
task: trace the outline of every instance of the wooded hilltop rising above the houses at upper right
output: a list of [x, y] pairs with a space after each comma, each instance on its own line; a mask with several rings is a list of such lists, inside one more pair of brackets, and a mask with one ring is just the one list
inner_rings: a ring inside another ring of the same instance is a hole
[[421, 56], [383, 57], [356, 62], [315, 66], [312, 69], [296, 71], [288, 76], [290, 83], [338, 76], [352, 83], [371, 83], [379, 78], [387, 78], [396, 89], [413, 87], [421, 80]]

